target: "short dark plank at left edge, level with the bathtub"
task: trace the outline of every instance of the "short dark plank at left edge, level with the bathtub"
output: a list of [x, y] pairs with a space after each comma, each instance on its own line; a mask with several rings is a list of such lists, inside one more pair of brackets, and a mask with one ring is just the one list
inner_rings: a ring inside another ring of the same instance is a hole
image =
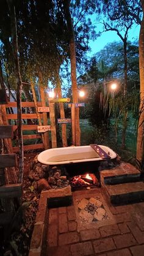
[[15, 167], [17, 165], [16, 154], [2, 154], [0, 155], [0, 167]]

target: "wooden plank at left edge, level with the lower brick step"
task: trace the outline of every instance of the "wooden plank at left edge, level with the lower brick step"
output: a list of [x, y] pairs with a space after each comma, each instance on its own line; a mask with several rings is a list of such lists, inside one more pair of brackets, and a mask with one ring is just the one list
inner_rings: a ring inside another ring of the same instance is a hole
[[0, 198], [14, 198], [21, 197], [22, 195], [22, 186], [21, 184], [10, 184], [0, 187]]

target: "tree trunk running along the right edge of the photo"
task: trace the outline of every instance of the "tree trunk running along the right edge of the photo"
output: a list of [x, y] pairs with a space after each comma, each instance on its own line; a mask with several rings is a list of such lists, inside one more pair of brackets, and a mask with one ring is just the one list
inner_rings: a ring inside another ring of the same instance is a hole
[[141, 0], [143, 20], [139, 36], [139, 69], [140, 69], [140, 116], [137, 129], [137, 160], [144, 173], [144, 0]]

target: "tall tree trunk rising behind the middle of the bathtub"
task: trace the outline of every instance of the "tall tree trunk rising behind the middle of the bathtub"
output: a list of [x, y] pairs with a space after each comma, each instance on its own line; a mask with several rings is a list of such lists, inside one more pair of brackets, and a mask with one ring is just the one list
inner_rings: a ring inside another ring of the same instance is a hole
[[[73, 92], [73, 103], [78, 102], [77, 97], [77, 81], [76, 81], [76, 45], [74, 41], [74, 29], [73, 21], [71, 19], [70, 13], [70, 0], [63, 1], [63, 6], [65, 9], [65, 18], [67, 20], [68, 32], [70, 36], [70, 61], [71, 61], [71, 83], [72, 83], [72, 92]], [[75, 126], [76, 126], [76, 146], [81, 145], [81, 130], [79, 127], [79, 108], [75, 108]]]

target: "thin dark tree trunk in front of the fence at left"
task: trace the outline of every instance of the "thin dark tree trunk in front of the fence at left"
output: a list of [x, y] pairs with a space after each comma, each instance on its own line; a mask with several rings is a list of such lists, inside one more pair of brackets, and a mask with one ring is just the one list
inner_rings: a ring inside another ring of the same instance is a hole
[[15, 77], [16, 77], [16, 102], [17, 102], [17, 112], [18, 112], [18, 146], [19, 152], [19, 178], [18, 182], [23, 181], [23, 170], [24, 170], [24, 152], [23, 152], [23, 132], [22, 132], [22, 118], [21, 118], [21, 89], [22, 81], [20, 74], [20, 64], [18, 59], [18, 38], [17, 38], [17, 28], [16, 28], [16, 14], [15, 7], [13, 6], [12, 0], [7, 0], [10, 12], [10, 25], [12, 32], [12, 48], [13, 48], [13, 61], [15, 64]]

